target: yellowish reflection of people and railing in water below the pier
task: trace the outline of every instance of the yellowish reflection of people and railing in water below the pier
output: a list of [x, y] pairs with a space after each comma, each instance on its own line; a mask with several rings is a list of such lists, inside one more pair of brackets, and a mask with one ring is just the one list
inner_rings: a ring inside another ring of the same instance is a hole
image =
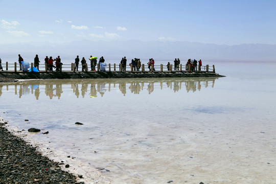
[[[218, 78], [158, 78], [158, 79], [63, 79], [63, 80], [31, 80], [12, 84], [0, 84], [0, 97], [3, 91], [14, 91], [14, 95], [21, 98], [23, 95], [34, 94], [38, 100], [44, 94], [50, 99], [60, 99], [63, 90], [72, 92], [76, 98], [104, 97], [111, 91], [120, 91], [123, 96], [127, 93], [140, 94], [147, 90], [148, 94], [154, 93], [154, 88], [172, 89], [174, 93], [186, 89], [187, 93], [200, 91], [201, 87], [214, 87]], [[5, 89], [6, 87], [6, 89]], [[42, 93], [41, 93], [42, 92]]]

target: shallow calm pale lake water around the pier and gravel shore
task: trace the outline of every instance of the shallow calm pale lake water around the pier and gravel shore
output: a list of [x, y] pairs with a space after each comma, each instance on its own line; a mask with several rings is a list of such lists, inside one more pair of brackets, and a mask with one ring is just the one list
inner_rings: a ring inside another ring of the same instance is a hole
[[0, 116], [49, 131], [21, 136], [87, 183], [273, 183], [276, 64], [215, 65], [227, 77], [0, 84]]

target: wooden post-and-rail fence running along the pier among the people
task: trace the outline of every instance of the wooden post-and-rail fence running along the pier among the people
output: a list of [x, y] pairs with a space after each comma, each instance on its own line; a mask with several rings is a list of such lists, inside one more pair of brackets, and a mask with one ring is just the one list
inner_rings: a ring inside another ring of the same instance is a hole
[[[33, 72], [33, 66], [34, 63], [30, 63], [30, 72]], [[82, 65], [79, 64], [78, 65], [79, 70], [75, 71], [75, 63], [71, 63], [71, 64], [60, 64], [59, 65], [59, 72], [80, 72]], [[215, 65], [213, 65], [213, 68], [210, 68], [209, 65], [205, 65], [205, 66], [197, 66], [197, 67], [193, 67], [192, 65], [182, 65], [179, 64], [176, 68], [176, 70], [174, 70], [174, 65], [169, 65], [164, 66], [163, 64], [155, 64], [154, 67], [152, 66], [148, 66], [145, 64], [142, 64], [140, 68], [138, 67], [132, 67], [132, 64], [127, 64], [125, 67], [122, 64], [107, 64], [105, 67], [100, 67], [100, 63], [98, 63], [95, 68], [95, 71], [90, 71], [88, 69], [88, 64], [86, 63], [84, 71], [85, 72], [102, 72], [103, 70], [101, 70], [101, 68], [104, 68], [104, 71], [106, 72], [133, 72], [133, 73], [145, 73], [145, 72], [154, 72], [154, 73], [160, 73], [160, 72], [198, 72], [198, 73], [205, 73], [205, 72], [211, 72], [211, 73], [215, 73]], [[43, 70], [41, 70], [43, 68]], [[14, 63], [8, 63], [6, 62], [6, 71], [10, 71], [10, 72], [18, 72], [19, 71], [19, 63], [14, 62]], [[49, 72], [49, 66], [47, 66], [47, 63], [40, 64], [39, 65], [39, 72]], [[28, 70], [29, 71], [29, 70]], [[26, 72], [26, 71], [25, 71]]]

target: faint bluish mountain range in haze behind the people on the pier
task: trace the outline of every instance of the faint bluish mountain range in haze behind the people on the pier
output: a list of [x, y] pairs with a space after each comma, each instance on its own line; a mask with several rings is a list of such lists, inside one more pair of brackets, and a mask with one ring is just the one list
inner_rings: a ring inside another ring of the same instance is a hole
[[90, 55], [109, 59], [155, 58], [156, 60], [203, 59], [213, 61], [275, 61], [276, 44], [218, 45], [188, 41], [73, 41], [68, 43], [29, 42], [0, 44], [0, 57], [18, 54], [33, 58], [57, 55], [88, 58]]

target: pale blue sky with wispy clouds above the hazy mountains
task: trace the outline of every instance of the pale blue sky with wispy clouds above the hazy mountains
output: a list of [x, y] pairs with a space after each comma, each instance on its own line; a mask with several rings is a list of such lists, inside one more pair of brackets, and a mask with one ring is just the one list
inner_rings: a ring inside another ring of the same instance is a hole
[[0, 0], [0, 43], [169, 40], [276, 44], [275, 0]]

